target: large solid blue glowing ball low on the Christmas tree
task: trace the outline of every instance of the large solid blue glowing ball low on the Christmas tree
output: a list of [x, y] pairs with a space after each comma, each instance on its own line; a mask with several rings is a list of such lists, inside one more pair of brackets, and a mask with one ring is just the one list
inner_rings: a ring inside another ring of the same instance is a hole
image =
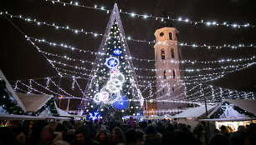
[[112, 106], [117, 110], [125, 110], [129, 105], [128, 99], [122, 95], [116, 95]]

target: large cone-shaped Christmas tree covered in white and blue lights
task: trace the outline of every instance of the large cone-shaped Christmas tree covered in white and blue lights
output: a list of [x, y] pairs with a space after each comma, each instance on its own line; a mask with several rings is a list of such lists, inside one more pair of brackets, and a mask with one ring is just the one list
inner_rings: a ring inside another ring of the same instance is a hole
[[120, 118], [138, 115], [142, 105], [143, 97], [115, 3], [79, 111]]

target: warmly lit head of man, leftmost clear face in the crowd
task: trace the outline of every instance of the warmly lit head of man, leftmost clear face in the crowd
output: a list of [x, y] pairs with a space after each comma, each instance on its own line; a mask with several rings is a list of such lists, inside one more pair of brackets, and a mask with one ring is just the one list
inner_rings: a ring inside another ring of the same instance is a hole
[[54, 129], [46, 126], [42, 129], [40, 143], [48, 143], [54, 140]]

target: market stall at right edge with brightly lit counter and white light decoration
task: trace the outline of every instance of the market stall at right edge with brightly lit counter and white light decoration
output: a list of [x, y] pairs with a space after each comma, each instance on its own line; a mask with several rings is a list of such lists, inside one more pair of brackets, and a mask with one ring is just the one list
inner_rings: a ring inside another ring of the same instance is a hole
[[209, 115], [201, 121], [214, 122], [216, 128], [229, 126], [237, 131], [240, 125], [256, 122], [256, 100], [224, 99]]

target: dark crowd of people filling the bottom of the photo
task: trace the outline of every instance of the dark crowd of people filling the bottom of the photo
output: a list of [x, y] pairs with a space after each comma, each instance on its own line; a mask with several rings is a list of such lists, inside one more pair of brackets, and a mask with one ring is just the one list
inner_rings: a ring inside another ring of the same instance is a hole
[[209, 133], [205, 122], [196, 128], [170, 120], [12, 121], [0, 128], [0, 145], [255, 145], [256, 124], [226, 126]]

